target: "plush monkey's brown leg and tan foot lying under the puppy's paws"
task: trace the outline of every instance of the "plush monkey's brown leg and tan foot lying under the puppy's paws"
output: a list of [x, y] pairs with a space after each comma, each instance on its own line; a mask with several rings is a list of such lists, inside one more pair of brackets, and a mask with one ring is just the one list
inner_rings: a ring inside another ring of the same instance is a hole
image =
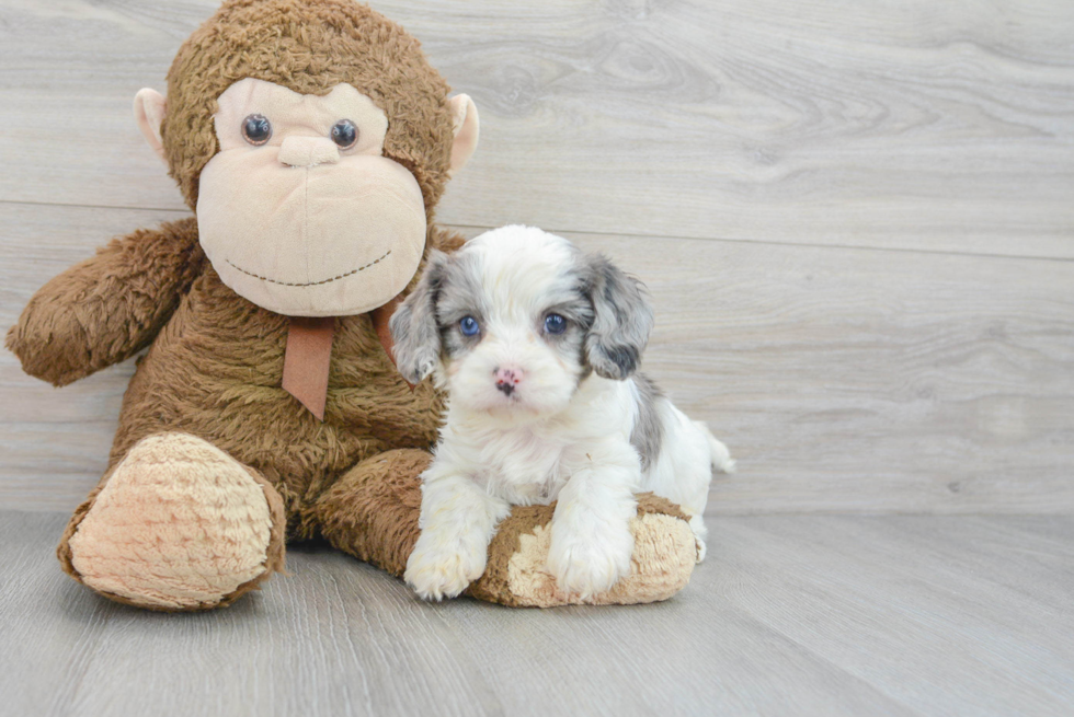
[[[431, 460], [416, 449], [369, 458], [324, 492], [311, 518], [332, 545], [400, 577], [421, 532], [421, 473]], [[585, 601], [563, 594], [545, 571], [553, 510], [555, 505], [515, 507], [500, 523], [488, 568], [468, 593], [517, 608], [632, 604], [666, 600], [689, 581], [697, 547], [687, 516], [667, 500], [643, 494], [631, 523], [631, 574]]]

